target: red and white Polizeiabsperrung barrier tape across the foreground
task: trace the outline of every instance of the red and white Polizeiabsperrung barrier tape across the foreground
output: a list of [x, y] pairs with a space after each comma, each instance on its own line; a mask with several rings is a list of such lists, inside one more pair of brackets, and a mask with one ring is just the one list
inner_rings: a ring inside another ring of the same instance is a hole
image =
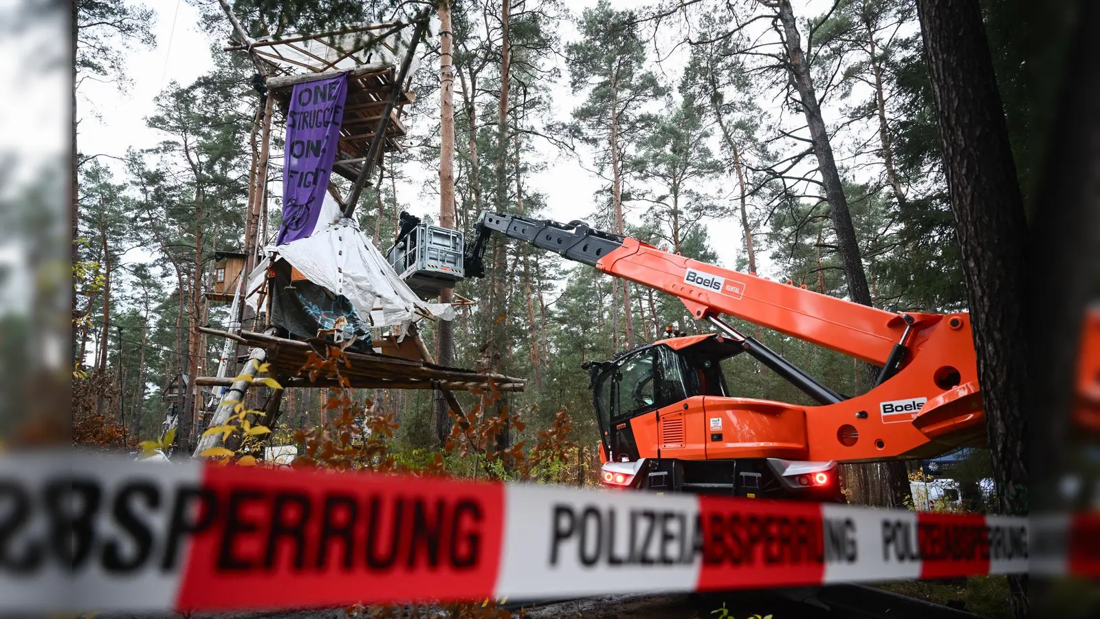
[[[1097, 574], [1096, 519], [1038, 525]], [[1060, 542], [1059, 542], [1060, 541]], [[1075, 542], [1077, 543], [1077, 542]], [[529, 485], [0, 458], [0, 610], [227, 610], [1028, 569], [1023, 518]], [[1033, 549], [1034, 553], [1034, 549]], [[1045, 563], [1044, 563], [1045, 561]]]

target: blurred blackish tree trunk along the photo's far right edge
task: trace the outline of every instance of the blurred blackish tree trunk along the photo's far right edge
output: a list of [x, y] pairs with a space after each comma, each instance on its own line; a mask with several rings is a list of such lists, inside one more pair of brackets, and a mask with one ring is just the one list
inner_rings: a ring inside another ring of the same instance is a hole
[[[1056, 107], [1052, 106], [1054, 118], [1045, 142], [1054, 146], [1048, 146], [1042, 162], [1034, 200], [1027, 200], [1033, 216], [1028, 222], [1025, 316], [1030, 325], [1043, 325], [1028, 330], [1027, 347], [1031, 368], [1024, 410], [1031, 417], [1027, 477], [1032, 513], [1076, 509], [1079, 496], [1063, 492], [1060, 482], [1071, 475], [1090, 475], [1093, 459], [1081, 456], [1096, 445], [1094, 439], [1076, 441], [1080, 426], [1074, 423], [1074, 413], [1079, 402], [1076, 377], [1082, 359], [1081, 325], [1088, 304], [1097, 301], [1096, 265], [1100, 263], [1100, 191], [1096, 182], [1100, 177], [1100, 117], [1096, 113], [1100, 109], [1100, 65], [1092, 53], [1100, 29], [1100, 4], [1087, 0], [1078, 4], [1076, 21], [1063, 25], [1064, 33], [1043, 31], [1044, 46], [1062, 40], [1070, 44], [1065, 69], [1058, 75], [1063, 84], [1052, 89], [1059, 97]], [[1047, 13], [1046, 7], [1040, 11]], [[1060, 22], [1062, 17], [1053, 13], [1050, 19]], [[1054, 55], [1044, 46], [1033, 57], [1043, 52]], [[1032, 66], [1048, 70], [1046, 63]], [[1041, 99], [1036, 97], [1032, 108], [1033, 119], [1042, 118], [1045, 111]], [[1060, 448], [1075, 443], [1077, 448]], [[1027, 594], [1034, 608], [1057, 608], [1065, 606], [1066, 591], [1063, 579], [1032, 577]]]

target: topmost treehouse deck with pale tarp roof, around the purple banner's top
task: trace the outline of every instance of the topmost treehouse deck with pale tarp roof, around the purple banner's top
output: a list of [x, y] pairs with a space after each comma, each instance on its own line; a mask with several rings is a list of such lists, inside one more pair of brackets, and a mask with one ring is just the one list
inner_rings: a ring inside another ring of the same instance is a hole
[[[393, 91], [399, 64], [410, 47], [415, 29], [408, 25], [402, 22], [360, 24], [312, 35], [265, 37], [226, 50], [248, 50], [264, 65], [267, 90], [284, 117], [295, 84], [348, 73], [348, 97], [332, 171], [354, 182]], [[416, 69], [418, 61], [414, 57], [411, 62], [409, 74]], [[413, 105], [416, 99], [407, 88], [405, 84], [389, 115], [383, 153], [402, 151], [399, 139], [406, 134], [402, 117], [405, 106]]]

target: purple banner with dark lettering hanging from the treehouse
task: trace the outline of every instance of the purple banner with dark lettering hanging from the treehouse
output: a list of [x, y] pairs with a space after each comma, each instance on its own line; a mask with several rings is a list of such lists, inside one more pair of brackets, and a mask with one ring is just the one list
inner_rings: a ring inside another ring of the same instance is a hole
[[348, 74], [295, 84], [286, 115], [283, 227], [275, 245], [314, 234], [340, 140]]

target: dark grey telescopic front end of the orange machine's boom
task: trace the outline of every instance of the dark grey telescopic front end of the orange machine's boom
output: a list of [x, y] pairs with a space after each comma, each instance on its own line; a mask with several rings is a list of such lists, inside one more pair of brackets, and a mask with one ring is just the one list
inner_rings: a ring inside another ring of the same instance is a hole
[[468, 278], [485, 276], [485, 246], [493, 231], [592, 267], [595, 267], [604, 256], [623, 247], [624, 240], [618, 235], [594, 230], [584, 221], [576, 219], [561, 224], [550, 219], [531, 219], [487, 210], [481, 214], [474, 230], [474, 240], [466, 245]]

